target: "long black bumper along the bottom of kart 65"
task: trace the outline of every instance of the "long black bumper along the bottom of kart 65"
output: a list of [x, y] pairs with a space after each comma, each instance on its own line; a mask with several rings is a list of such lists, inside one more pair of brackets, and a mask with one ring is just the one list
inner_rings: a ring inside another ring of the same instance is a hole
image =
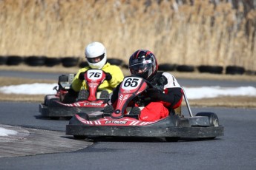
[[66, 135], [110, 137], [217, 137], [223, 136], [223, 126], [82, 126], [67, 125]]

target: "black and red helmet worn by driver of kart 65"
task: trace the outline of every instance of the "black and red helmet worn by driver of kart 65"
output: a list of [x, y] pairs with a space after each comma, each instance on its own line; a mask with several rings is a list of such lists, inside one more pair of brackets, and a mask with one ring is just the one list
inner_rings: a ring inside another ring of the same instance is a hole
[[148, 50], [137, 50], [129, 59], [129, 69], [131, 75], [137, 75], [148, 79], [151, 75], [157, 73], [157, 58], [153, 52]]

